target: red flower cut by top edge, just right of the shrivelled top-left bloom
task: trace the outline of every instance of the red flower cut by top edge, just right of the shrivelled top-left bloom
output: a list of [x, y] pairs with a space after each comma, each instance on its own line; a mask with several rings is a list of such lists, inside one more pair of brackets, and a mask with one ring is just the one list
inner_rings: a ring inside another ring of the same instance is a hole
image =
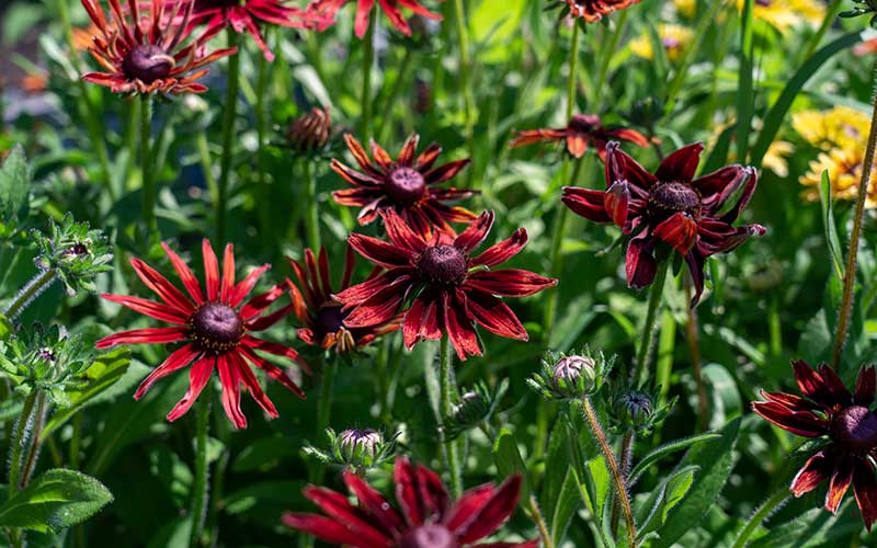
[[285, 0], [194, 0], [192, 20], [187, 32], [206, 24], [204, 35], [212, 38], [224, 28], [231, 27], [237, 33], [247, 32], [265, 56], [273, 61], [274, 54], [267, 48], [260, 23], [287, 26], [292, 28], [309, 28], [317, 24], [315, 14], [287, 5]]

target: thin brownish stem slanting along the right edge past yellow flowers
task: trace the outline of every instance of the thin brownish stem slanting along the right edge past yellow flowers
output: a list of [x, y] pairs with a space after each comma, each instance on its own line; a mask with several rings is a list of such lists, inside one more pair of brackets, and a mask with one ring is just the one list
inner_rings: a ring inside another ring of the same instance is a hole
[[843, 296], [841, 298], [841, 310], [838, 317], [838, 333], [834, 339], [834, 353], [832, 365], [838, 369], [841, 365], [841, 355], [846, 342], [846, 333], [850, 329], [850, 320], [853, 316], [853, 301], [855, 300], [856, 287], [856, 260], [858, 258], [858, 240], [862, 237], [862, 219], [865, 216], [865, 201], [868, 197], [870, 186], [870, 172], [874, 165], [874, 152], [877, 149], [877, 61], [874, 64], [874, 106], [870, 117], [870, 130], [868, 132], [868, 145], [865, 149], [865, 162], [862, 165], [862, 180], [858, 183], [858, 196], [856, 208], [853, 214], [853, 229], [850, 233], [850, 251], [846, 256], [846, 269], [843, 276]]

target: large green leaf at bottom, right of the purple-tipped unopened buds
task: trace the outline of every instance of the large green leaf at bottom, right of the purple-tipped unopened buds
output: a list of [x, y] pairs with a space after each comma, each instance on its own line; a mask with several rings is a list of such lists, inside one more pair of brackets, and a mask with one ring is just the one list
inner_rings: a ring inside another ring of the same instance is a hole
[[734, 419], [721, 430], [721, 437], [692, 448], [677, 467], [682, 470], [696, 466], [701, 471], [685, 500], [674, 507], [661, 527], [661, 537], [652, 548], [668, 548], [691, 530], [715, 503], [733, 465], [733, 446], [740, 431], [740, 419]]

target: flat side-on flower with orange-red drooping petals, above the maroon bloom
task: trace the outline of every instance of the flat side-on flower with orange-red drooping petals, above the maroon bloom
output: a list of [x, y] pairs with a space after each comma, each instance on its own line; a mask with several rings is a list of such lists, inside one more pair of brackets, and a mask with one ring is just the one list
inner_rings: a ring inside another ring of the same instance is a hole
[[510, 147], [523, 147], [539, 141], [567, 141], [567, 150], [576, 158], [581, 158], [588, 151], [588, 146], [596, 148], [600, 159], [606, 157], [606, 142], [612, 139], [626, 140], [640, 147], [649, 144], [648, 137], [625, 127], [604, 127], [600, 116], [595, 114], [576, 114], [570, 118], [567, 127], [560, 129], [542, 128], [517, 132]]

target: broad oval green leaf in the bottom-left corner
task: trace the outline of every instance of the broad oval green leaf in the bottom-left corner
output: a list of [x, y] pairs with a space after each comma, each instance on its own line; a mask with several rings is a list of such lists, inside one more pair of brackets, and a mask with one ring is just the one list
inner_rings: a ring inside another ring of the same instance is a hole
[[111, 502], [113, 494], [96, 479], [73, 470], [47, 470], [0, 507], [0, 525], [58, 533]]

